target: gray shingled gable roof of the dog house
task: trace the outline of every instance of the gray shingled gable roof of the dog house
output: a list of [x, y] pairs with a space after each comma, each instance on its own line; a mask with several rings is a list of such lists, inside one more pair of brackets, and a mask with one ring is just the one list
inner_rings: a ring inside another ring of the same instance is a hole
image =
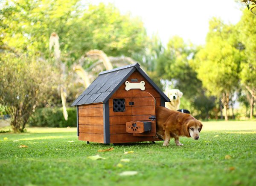
[[157, 87], [157, 85], [148, 77], [139, 63], [119, 67], [99, 73], [99, 76], [88, 86], [88, 88], [72, 103], [71, 106], [78, 106], [90, 103], [105, 103], [114, 92], [127, 80], [127, 78], [138, 70], [140, 74], [163, 96], [166, 102], [169, 98]]

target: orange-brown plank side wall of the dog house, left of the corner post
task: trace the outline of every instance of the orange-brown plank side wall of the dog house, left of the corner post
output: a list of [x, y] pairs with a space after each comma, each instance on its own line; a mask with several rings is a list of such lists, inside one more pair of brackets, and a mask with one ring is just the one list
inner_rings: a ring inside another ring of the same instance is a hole
[[104, 143], [103, 103], [79, 106], [79, 140]]

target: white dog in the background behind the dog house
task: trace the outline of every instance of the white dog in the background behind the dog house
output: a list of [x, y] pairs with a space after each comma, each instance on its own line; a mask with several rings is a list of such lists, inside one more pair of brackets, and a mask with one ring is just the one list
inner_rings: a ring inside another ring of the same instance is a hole
[[165, 94], [171, 100], [170, 102], [165, 103], [166, 108], [177, 111], [180, 107], [180, 98], [182, 97], [183, 93], [180, 92], [179, 89], [170, 89], [167, 90]]

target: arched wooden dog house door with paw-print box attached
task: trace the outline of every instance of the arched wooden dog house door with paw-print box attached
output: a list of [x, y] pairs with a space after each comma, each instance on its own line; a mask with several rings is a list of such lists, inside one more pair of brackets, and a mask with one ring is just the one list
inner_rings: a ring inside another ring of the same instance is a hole
[[148, 92], [134, 95], [129, 102], [132, 111], [132, 121], [126, 123], [126, 131], [133, 136], [155, 136], [155, 98]]

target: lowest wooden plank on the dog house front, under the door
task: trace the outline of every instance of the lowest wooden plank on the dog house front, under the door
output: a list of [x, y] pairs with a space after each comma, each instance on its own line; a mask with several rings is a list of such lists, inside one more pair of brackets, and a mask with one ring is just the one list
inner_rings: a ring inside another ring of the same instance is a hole
[[110, 134], [110, 143], [129, 143], [140, 141], [160, 141], [154, 137], [137, 137], [133, 134]]

